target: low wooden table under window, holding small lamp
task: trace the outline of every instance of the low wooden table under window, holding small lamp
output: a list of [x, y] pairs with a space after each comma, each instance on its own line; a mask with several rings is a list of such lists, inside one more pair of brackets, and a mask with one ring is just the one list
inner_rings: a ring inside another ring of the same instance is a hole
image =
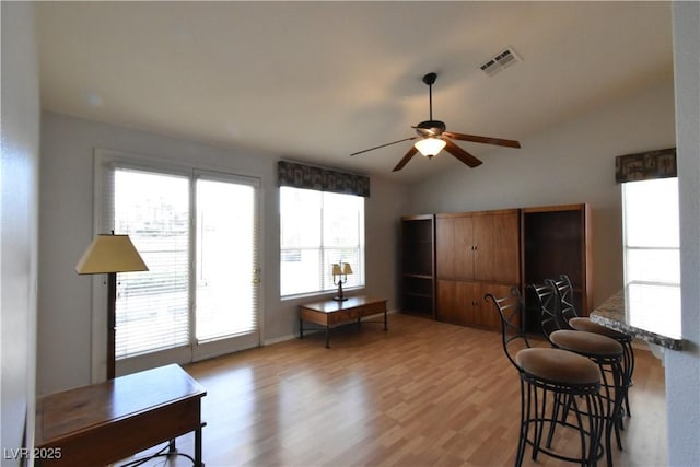
[[[317, 328], [304, 329], [304, 322], [320, 325], [326, 330], [326, 349], [330, 348], [330, 329], [342, 324], [357, 322], [371, 315], [384, 314], [384, 330], [387, 330], [386, 300], [373, 299], [369, 296], [349, 296], [345, 302], [328, 300], [326, 302], [310, 303], [299, 306], [299, 338], [304, 338], [304, 330], [315, 330]], [[368, 322], [371, 323], [371, 322]], [[376, 323], [376, 322], [374, 322]], [[382, 322], [380, 322], [382, 323]]]

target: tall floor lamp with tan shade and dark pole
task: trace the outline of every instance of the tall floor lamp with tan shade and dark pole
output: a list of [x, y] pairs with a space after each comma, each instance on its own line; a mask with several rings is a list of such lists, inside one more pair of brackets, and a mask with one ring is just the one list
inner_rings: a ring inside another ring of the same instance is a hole
[[79, 275], [107, 275], [107, 380], [115, 377], [117, 272], [148, 271], [129, 235], [100, 234], [75, 266]]

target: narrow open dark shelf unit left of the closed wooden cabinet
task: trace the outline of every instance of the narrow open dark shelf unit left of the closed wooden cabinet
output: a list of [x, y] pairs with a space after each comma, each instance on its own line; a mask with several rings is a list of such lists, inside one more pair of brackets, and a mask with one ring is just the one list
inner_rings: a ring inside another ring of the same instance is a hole
[[401, 218], [401, 308], [435, 317], [434, 215]]

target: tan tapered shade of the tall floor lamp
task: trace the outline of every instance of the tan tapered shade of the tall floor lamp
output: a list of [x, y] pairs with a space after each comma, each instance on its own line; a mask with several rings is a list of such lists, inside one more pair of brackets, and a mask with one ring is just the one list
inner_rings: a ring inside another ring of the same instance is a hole
[[148, 270], [129, 235], [97, 235], [75, 266], [79, 275]]

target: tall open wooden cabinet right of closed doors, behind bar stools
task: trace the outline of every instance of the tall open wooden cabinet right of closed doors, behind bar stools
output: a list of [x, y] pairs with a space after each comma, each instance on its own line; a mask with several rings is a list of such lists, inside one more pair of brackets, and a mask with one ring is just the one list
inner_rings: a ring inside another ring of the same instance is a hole
[[[593, 230], [585, 205], [547, 206], [521, 210], [523, 285], [542, 283], [565, 273], [574, 289], [576, 311], [593, 305]], [[539, 332], [536, 299], [525, 294], [526, 328]]]

